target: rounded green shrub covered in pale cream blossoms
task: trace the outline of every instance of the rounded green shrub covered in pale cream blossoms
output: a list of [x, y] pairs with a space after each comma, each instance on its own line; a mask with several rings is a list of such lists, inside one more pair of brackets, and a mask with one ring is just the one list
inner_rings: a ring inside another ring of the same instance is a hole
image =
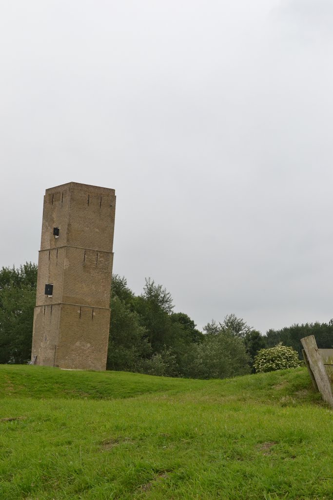
[[297, 368], [300, 365], [301, 361], [296, 350], [283, 345], [282, 342], [269, 349], [261, 349], [255, 356], [254, 362], [254, 367], [259, 373]]

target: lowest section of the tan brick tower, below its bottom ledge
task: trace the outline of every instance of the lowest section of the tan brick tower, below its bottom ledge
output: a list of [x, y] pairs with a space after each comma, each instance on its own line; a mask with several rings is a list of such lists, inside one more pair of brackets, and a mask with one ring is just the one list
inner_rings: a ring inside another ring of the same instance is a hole
[[58, 303], [34, 309], [31, 359], [67, 369], [105, 370], [110, 309]]

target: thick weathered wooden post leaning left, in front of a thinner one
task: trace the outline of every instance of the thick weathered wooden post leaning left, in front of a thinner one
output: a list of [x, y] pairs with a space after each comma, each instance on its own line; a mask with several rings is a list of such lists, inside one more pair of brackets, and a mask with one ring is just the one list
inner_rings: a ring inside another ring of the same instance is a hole
[[307, 354], [311, 370], [316, 379], [318, 388], [323, 396], [324, 401], [333, 407], [333, 394], [329, 377], [322, 358], [318, 352], [317, 342], [314, 335], [301, 338], [302, 345]]

